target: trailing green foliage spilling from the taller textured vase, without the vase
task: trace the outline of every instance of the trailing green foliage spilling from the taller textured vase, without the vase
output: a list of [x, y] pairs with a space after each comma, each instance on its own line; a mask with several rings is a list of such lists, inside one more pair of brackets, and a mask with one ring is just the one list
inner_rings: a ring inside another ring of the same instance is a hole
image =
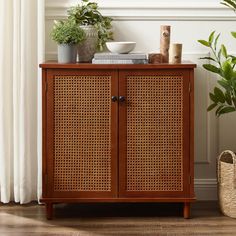
[[98, 10], [96, 2], [82, 0], [81, 4], [68, 10], [69, 19], [79, 25], [93, 25], [98, 31], [98, 49], [102, 50], [105, 43], [113, 39], [112, 18], [103, 16]]

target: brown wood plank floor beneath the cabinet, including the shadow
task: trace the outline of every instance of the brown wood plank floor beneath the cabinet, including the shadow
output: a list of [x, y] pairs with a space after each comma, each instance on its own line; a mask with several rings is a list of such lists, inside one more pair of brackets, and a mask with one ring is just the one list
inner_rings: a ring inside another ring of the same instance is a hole
[[215, 202], [193, 204], [189, 220], [179, 204], [58, 204], [51, 221], [44, 210], [0, 204], [0, 236], [236, 235], [236, 219], [221, 215]]

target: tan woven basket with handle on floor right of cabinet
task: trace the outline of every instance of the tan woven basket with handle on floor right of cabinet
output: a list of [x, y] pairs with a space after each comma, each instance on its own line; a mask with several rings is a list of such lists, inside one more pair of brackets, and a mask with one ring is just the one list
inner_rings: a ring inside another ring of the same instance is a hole
[[218, 159], [218, 197], [224, 215], [236, 218], [236, 156], [224, 151]]

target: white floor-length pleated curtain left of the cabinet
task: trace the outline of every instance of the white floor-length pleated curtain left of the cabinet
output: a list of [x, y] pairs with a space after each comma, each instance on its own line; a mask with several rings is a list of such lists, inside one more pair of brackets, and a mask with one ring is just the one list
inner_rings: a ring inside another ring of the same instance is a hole
[[[0, 201], [41, 195], [44, 0], [0, 0]], [[39, 97], [39, 99], [38, 99]]]

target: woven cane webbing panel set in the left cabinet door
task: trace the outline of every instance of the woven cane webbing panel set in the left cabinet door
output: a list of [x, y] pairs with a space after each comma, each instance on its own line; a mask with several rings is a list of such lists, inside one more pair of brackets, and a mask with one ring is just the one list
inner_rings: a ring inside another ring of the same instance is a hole
[[54, 191], [111, 191], [111, 77], [54, 78]]

